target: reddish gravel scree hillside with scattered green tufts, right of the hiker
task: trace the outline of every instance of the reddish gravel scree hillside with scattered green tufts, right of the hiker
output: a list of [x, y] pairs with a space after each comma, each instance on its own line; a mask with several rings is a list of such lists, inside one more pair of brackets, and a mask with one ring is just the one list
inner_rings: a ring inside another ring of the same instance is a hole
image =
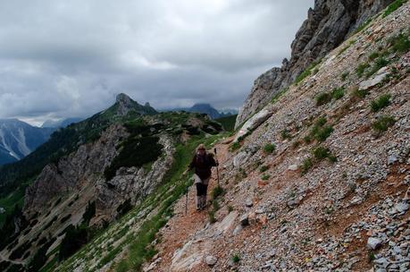
[[381, 13], [218, 144], [223, 193], [180, 199], [145, 271], [408, 271], [409, 22]]

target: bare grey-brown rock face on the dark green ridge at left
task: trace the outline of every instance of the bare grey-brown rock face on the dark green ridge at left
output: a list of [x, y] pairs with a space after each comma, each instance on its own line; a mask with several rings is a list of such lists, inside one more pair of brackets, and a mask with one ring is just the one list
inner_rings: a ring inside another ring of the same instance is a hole
[[82, 145], [70, 156], [47, 165], [26, 191], [26, 213], [40, 211], [48, 201], [64, 193], [95, 185], [99, 175], [117, 155], [119, 141], [127, 135], [121, 125], [113, 125], [96, 142]]

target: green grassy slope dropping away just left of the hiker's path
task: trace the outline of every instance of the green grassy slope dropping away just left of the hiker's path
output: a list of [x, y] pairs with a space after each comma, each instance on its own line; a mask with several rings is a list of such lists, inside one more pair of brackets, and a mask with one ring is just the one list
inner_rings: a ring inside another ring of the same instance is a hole
[[[207, 147], [211, 147], [215, 140], [222, 138], [222, 136], [225, 134], [213, 135], [208, 138], [204, 138], [203, 135], [194, 136], [187, 143], [179, 144], [176, 147], [172, 168], [164, 177], [162, 185], [146, 200], [133, 208], [127, 215], [121, 217], [118, 222], [112, 223], [104, 233], [96, 236], [92, 242], [89, 242], [57, 268], [47, 266], [42, 271], [72, 271], [77, 260], [86, 264], [87, 271], [95, 271], [113, 261], [126, 247], [129, 248], [127, 257], [121, 259], [118, 264], [114, 264], [114, 268], [117, 271], [141, 268], [146, 259], [154, 256], [155, 251], [150, 244], [155, 240], [155, 234], [158, 230], [172, 217], [173, 203], [180, 199], [190, 184], [188, 176], [182, 174], [187, 169], [195, 148], [201, 142], [205, 143]], [[132, 218], [137, 218], [135, 222], [135, 225], [139, 225], [137, 232], [131, 229], [132, 225], [127, 224]], [[123, 237], [126, 239], [121, 241]], [[107, 243], [109, 239], [112, 239], [113, 242]], [[117, 244], [117, 241], [121, 242]], [[105, 244], [104, 247], [103, 244]], [[89, 265], [95, 263], [94, 257], [97, 257], [97, 263], [95, 267], [91, 268]]]

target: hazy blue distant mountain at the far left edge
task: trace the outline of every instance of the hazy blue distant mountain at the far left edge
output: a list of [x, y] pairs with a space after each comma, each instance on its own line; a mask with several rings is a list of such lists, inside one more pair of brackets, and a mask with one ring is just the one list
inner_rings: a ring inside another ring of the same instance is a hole
[[18, 119], [0, 119], [0, 165], [26, 157], [49, 139], [53, 128], [39, 128]]

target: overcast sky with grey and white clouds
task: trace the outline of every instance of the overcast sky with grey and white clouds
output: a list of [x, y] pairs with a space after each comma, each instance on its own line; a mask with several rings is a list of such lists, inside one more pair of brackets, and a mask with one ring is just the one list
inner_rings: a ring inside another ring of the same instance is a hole
[[314, 0], [0, 0], [0, 118], [242, 105]]

